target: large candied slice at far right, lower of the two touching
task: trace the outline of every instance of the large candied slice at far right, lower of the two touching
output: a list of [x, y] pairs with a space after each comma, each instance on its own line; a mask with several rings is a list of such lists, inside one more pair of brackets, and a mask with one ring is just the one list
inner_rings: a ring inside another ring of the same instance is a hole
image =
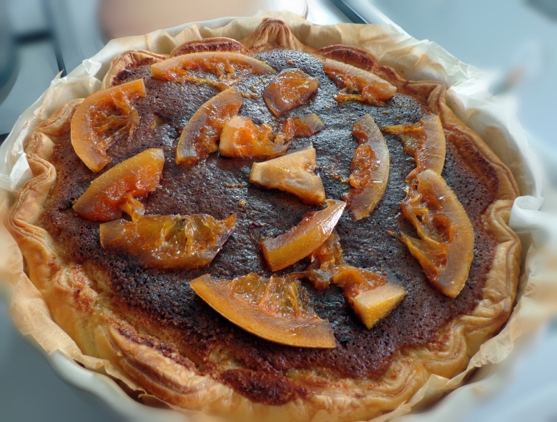
[[402, 234], [402, 241], [431, 284], [456, 298], [474, 257], [473, 227], [462, 204], [443, 177], [425, 170], [410, 181], [401, 209], [420, 237]]

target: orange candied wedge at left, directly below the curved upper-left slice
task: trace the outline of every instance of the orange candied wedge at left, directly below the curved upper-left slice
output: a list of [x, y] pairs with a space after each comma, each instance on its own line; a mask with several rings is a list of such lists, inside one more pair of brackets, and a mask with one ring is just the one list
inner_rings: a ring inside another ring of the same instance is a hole
[[95, 221], [120, 218], [124, 210], [137, 218], [143, 214], [143, 206], [136, 199], [159, 186], [163, 166], [162, 149], [146, 149], [93, 180], [73, 209]]

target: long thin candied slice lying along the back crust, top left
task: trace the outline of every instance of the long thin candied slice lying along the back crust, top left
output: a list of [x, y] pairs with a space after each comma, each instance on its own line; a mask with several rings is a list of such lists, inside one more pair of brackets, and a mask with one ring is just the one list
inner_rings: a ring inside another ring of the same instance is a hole
[[219, 80], [237, 81], [230, 76], [240, 73], [274, 74], [271, 66], [262, 60], [233, 51], [201, 51], [175, 56], [151, 65], [151, 74], [163, 81], [182, 81], [189, 72], [201, 71], [214, 74]]

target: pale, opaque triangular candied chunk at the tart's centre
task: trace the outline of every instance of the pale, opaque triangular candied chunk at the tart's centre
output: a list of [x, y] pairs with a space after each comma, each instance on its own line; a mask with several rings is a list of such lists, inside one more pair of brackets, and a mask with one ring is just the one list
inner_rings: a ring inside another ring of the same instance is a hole
[[280, 189], [293, 193], [308, 204], [325, 201], [325, 189], [319, 175], [315, 175], [315, 148], [253, 163], [249, 181], [262, 188]]

